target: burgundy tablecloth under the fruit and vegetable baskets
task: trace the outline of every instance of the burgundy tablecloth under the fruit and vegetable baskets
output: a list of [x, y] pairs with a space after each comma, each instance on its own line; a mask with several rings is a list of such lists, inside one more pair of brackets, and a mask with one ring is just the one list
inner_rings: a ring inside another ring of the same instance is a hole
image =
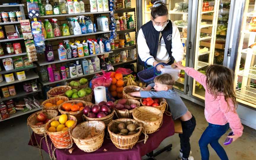
[[[159, 128], [155, 133], [148, 134], [148, 141], [145, 144], [143, 142], [139, 142], [132, 149], [118, 149], [110, 139], [104, 138], [101, 148], [91, 153], [86, 153], [80, 150], [76, 144], [74, 144], [72, 148], [75, 149], [72, 154], [68, 152], [68, 149], [56, 149], [55, 154], [57, 160], [139, 160], [145, 154], [156, 149], [165, 138], [172, 135], [174, 135], [174, 122], [172, 117], [164, 114], [163, 125], [161, 128]], [[41, 136], [36, 135], [36, 141], [38, 143], [40, 143], [41, 138]], [[143, 138], [144, 134], [141, 134], [140, 140]], [[34, 146], [36, 146], [34, 134], [32, 134], [31, 139]], [[50, 146], [52, 142], [50, 141], [49, 136], [47, 136], [47, 141]], [[29, 141], [28, 145], [32, 145], [31, 141]], [[48, 153], [45, 138], [42, 139], [41, 147]], [[107, 151], [103, 151], [104, 149]]]

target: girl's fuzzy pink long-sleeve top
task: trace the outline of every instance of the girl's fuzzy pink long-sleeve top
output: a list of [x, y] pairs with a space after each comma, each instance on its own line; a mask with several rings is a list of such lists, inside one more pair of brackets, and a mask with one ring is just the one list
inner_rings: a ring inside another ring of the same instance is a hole
[[[234, 104], [231, 99], [228, 102], [225, 101], [223, 93], [220, 93], [217, 98], [210, 94], [206, 85], [206, 76], [194, 68], [185, 68], [186, 74], [198, 81], [205, 89], [205, 108], [204, 116], [207, 122], [216, 125], [225, 125], [229, 123], [229, 127], [232, 129], [234, 135], [239, 137], [243, 134], [243, 125], [240, 118], [234, 108]], [[228, 109], [229, 104], [229, 109]]]

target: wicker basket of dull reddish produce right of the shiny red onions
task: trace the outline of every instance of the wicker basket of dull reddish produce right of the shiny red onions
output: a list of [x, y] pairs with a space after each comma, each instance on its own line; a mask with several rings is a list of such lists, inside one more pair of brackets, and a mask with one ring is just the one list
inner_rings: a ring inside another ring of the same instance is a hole
[[114, 108], [119, 118], [132, 118], [132, 111], [136, 107], [140, 107], [140, 102], [136, 99], [119, 99]]

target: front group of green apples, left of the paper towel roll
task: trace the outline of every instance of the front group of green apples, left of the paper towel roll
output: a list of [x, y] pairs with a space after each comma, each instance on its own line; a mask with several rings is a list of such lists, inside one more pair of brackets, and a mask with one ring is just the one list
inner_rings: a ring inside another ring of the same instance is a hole
[[92, 102], [92, 89], [89, 87], [80, 90], [70, 89], [65, 92], [65, 95], [70, 100], [83, 100], [85, 102]]

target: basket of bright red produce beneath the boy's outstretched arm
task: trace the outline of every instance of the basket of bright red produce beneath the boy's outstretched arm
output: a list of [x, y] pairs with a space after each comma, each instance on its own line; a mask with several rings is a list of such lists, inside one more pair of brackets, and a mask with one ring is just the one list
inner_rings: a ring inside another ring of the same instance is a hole
[[164, 98], [143, 98], [140, 100], [141, 105], [151, 106], [161, 110], [163, 113], [167, 110], [168, 104]]

